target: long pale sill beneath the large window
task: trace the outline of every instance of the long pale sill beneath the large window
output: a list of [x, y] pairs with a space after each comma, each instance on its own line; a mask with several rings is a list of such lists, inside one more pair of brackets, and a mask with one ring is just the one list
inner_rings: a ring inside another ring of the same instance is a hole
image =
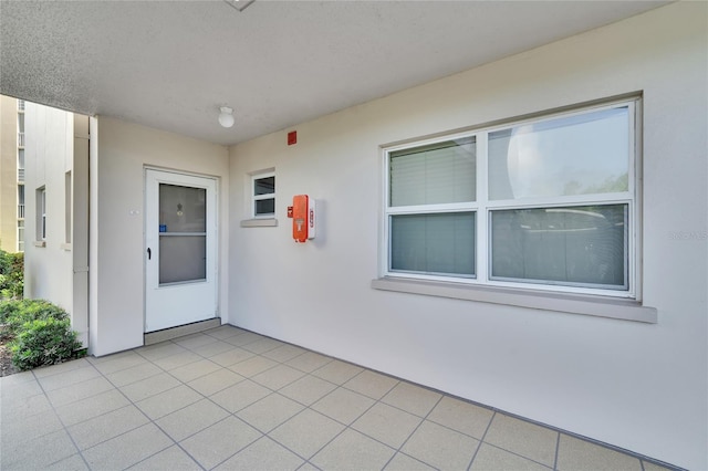
[[397, 278], [372, 280], [372, 287], [399, 293], [451, 297], [455, 300], [504, 304], [533, 310], [645, 322], [648, 324], [656, 324], [658, 318], [656, 307], [643, 306], [642, 303], [633, 300], [607, 299], [582, 294], [540, 293], [525, 290], [471, 286]]

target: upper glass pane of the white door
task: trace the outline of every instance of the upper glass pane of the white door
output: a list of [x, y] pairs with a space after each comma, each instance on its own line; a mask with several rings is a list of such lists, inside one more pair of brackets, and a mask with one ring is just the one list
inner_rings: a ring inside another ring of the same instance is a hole
[[206, 232], [207, 190], [160, 184], [160, 232]]

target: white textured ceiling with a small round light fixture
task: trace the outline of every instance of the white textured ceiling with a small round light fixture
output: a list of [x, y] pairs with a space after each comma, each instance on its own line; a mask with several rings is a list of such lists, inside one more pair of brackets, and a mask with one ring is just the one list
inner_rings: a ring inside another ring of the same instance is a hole
[[0, 93], [228, 145], [665, 3], [2, 0]]

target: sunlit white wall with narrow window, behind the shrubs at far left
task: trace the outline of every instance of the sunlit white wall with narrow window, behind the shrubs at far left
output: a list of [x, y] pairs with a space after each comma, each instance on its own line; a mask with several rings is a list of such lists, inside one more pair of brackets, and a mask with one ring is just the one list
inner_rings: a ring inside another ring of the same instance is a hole
[[[73, 169], [74, 116], [61, 109], [25, 104], [24, 295], [73, 308], [73, 254], [65, 243], [65, 172]], [[46, 190], [46, 240], [37, 231], [37, 189]], [[73, 320], [72, 320], [73, 321]], [[85, 339], [86, 325], [74, 327]]]

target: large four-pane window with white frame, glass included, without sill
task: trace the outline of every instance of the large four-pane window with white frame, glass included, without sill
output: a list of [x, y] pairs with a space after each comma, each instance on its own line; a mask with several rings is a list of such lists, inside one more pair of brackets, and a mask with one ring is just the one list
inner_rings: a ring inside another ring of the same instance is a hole
[[384, 274], [634, 297], [637, 104], [387, 148]]

